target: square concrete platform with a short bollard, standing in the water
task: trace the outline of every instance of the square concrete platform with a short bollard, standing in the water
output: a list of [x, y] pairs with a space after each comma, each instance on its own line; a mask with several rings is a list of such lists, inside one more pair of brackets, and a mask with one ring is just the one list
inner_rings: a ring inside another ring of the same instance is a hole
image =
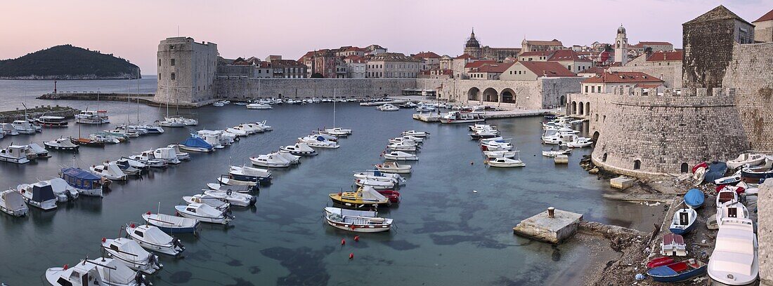
[[521, 220], [516, 227], [512, 227], [512, 233], [551, 244], [560, 244], [577, 232], [577, 224], [580, 224], [582, 214], [554, 210], [553, 217], [550, 217], [549, 211], [545, 210], [526, 220]]

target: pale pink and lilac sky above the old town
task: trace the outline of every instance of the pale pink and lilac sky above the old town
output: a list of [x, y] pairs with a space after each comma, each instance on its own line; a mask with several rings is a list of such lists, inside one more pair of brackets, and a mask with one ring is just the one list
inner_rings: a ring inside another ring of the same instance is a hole
[[752, 22], [773, 0], [10, 1], [2, 3], [0, 59], [72, 44], [155, 74], [158, 41], [178, 35], [178, 26], [179, 35], [217, 43], [226, 58], [298, 59], [312, 49], [370, 44], [458, 56], [472, 27], [493, 47], [519, 47], [524, 36], [590, 45], [612, 42], [621, 23], [632, 44], [681, 47], [682, 23], [717, 5]]

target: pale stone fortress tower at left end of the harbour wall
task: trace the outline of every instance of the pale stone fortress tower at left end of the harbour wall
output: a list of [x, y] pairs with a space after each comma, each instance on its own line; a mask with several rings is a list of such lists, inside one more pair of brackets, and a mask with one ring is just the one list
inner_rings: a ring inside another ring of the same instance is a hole
[[217, 45], [173, 37], [158, 43], [157, 103], [196, 103], [216, 98]]

